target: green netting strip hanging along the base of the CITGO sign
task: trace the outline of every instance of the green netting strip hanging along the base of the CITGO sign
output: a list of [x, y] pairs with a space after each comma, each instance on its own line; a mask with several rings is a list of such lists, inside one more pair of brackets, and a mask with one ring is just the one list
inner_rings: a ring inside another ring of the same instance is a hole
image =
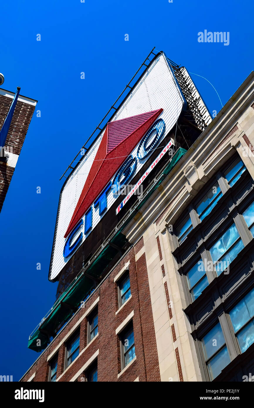
[[[163, 182], [166, 175], [170, 173], [174, 165], [181, 159], [181, 157], [185, 153], [185, 149], [179, 149], [174, 154], [171, 162], [168, 164], [166, 169], [164, 169], [159, 180], [146, 195], [144, 202], [146, 202], [152, 195], [152, 193], [154, 193], [158, 186]], [[130, 214], [131, 218], [133, 218], [137, 211], [139, 211], [139, 209], [144, 205], [144, 202], [141, 201], [140, 204], [135, 208], [135, 211]], [[119, 232], [112, 239], [113, 244], [119, 246], [120, 248], [126, 243], [126, 237], [121, 233], [121, 231], [130, 222], [130, 217], [127, 218], [126, 222], [124, 222], [124, 224], [121, 226]], [[115, 257], [117, 252], [117, 248], [113, 248], [109, 244], [106, 245], [102, 253], [86, 269], [86, 273], [93, 277], [99, 277], [100, 275], [102, 275], [103, 270], [106, 268], [106, 266], [108, 266], [109, 262]], [[80, 302], [86, 297], [92, 286], [93, 281], [85, 275], [75, 280], [70, 286], [68, 286], [68, 288], [60, 296], [60, 298], [57, 299], [57, 302], [55, 302], [52, 307], [53, 311], [41, 324], [40, 330], [48, 333], [49, 336], [55, 335], [60, 324], [62, 324], [63, 322], [67, 322], [67, 320], [73, 315], [72, 308], [75, 309], [80, 305]], [[44, 348], [46, 348], [49, 343], [49, 336], [42, 333], [40, 330], [36, 330], [28, 342], [28, 348], [31, 348], [32, 350], [38, 352], [44, 350]], [[40, 340], [40, 342], [38, 342], [38, 340]]]

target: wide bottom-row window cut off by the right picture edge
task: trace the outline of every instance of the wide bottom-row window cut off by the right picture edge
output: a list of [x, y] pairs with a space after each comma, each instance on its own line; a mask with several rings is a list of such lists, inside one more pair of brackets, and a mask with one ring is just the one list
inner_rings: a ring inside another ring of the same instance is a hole
[[241, 352], [254, 343], [254, 289], [229, 313]]

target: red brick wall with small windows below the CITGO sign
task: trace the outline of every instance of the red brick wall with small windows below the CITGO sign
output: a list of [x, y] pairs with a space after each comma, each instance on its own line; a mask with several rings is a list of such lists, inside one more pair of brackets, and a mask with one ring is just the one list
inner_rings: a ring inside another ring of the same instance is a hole
[[[124, 268], [128, 261], [130, 261], [131, 298], [116, 314], [118, 310], [118, 293], [114, 277]], [[87, 345], [87, 315], [80, 323], [80, 355], [64, 371], [66, 344], [61, 345], [60, 343], [68, 333], [71, 335], [73, 326], [83, 315], [86, 315], [86, 310], [91, 307], [98, 296], [98, 336]], [[132, 311], [134, 311], [133, 330], [136, 359], [118, 377], [121, 372], [120, 341], [119, 336], [115, 334], [115, 330]], [[134, 381], [137, 377], [139, 377], [139, 381], [160, 381], [145, 254], [138, 259], [136, 264], [135, 248], [130, 248], [130, 251], [121, 259], [101, 286], [91, 295], [84, 307], [78, 310], [62, 332], [55, 337], [49, 347], [42, 353], [38, 361], [29, 369], [22, 381], [27, 381], [34, 372], [34, 381], [47, 381], [49, 374], [47, 358], [57, 347], [59, 347], [57, 378], [62, 375], [59, 381], [70, 381], [98, 349], [98, 381]], [[84, 372], [79, 375], [77, 381], [82, 381], [82, 377], [84, 377]]]

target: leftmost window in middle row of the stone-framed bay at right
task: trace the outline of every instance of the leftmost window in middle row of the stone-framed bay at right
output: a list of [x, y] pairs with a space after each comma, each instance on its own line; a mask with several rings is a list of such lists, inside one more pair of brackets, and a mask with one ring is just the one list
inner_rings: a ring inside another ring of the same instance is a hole
[[200, 261], [186, 274], [192, 300], [197, 299], [209, 285], [203, 261]]

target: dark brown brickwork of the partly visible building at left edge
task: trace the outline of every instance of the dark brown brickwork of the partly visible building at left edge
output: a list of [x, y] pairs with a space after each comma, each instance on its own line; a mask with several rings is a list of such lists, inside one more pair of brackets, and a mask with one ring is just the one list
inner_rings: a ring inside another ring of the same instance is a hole
[[[0, 95], [0, 129], [9, 112], [12, 98]], [[18, 101], [15, 107], [5, 146], [12, 147], [12, 153], [19, 155], [31, 122], [35, 106]], [[14, 168], [1, 162], [0, 157], [0, 211], [13, 176]]]

